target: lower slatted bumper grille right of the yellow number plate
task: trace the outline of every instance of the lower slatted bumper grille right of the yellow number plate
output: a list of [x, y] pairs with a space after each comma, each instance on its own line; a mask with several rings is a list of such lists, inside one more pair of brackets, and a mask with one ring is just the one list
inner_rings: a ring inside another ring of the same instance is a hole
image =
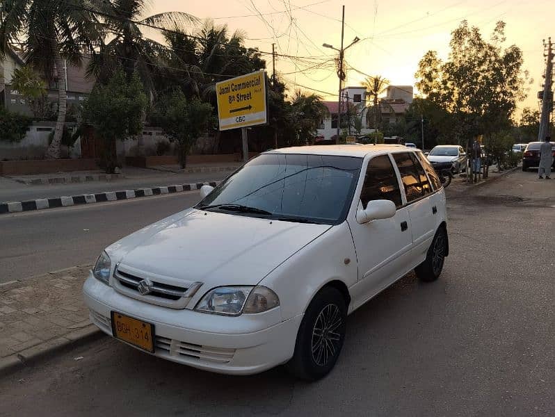
[[195, 345], [183, 341], [176, 341], [162, 336], [155, 338], [156, 353], [166, 352], [170, 357], [193, 359], [213, 363], [230, 363], [235, 354], [235, 349]]

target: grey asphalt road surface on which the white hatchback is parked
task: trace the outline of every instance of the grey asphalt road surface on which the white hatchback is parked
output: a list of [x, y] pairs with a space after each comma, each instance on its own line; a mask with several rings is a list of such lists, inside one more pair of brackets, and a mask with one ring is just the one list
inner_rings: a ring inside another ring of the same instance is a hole
[[554, 416], [555, 183], [448, 191], [442, 277], [407, 275], [353, 313], [320, 382], [205, 373], [106, 337], [0, 379], [0, 416]]

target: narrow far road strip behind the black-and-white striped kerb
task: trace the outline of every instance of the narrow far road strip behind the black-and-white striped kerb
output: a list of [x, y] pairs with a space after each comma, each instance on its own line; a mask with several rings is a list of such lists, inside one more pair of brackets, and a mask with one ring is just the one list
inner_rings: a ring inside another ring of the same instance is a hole
[[221, 181], [232, 172], [205, 172], [198, 174], [172, 174], [164, 172], [149, 177], [122, 178], [114, 181], [90, 181], [86, 183], [59, 183], [47, 185], [26, 185], [12, 179], [0, 177], [0, 202], [20, 202], [29, 199], [82, 195], [104, 191], [134, 190], [172, 186], [183, 183]]

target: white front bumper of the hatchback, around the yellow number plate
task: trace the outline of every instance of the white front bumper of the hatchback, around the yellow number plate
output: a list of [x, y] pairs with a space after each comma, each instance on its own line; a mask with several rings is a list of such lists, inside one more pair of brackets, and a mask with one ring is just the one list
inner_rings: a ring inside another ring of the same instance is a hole
[[83, 296], [90, 320], [104, 333], [112, 336], [111, 311], [118, 311], [154, 325], [154, 356], [231, 375], [260, 373], [291, 359], [303, 318], [281, 321], [279, 307], [238, 317], [168, 309], [126, 297], [92, 276]]

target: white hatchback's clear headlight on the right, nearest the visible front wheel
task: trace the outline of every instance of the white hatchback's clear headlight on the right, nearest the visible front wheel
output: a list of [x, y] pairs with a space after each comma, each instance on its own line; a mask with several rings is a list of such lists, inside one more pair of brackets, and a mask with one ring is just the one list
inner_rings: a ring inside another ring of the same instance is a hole
[[228, 286], [211, 289], [195, 307], [201, 313], [239, 316], [241, 313], [262, 313], [280, 305], [278, 296], [264, 286]]

